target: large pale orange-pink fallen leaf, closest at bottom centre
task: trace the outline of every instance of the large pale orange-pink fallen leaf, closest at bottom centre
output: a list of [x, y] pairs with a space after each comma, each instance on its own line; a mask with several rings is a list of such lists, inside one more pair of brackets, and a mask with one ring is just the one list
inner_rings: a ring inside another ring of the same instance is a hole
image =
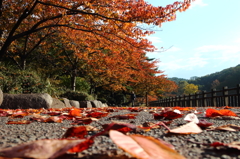
[[124, 135], [111, 130], [109, 132], [113, 142], [136, 158], [151, 159], [184, 159], [182, 155], [173, 150], [173, 146], [161, 140], [142, 135]]

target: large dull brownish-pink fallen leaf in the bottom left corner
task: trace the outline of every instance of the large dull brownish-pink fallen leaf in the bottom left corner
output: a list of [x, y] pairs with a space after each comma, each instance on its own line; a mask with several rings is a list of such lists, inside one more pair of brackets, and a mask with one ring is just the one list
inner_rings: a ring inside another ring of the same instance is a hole
[[0, 154], [9, 158], [57, 158], [84, 141], [83, 139], [37, 140], [1, 149]]

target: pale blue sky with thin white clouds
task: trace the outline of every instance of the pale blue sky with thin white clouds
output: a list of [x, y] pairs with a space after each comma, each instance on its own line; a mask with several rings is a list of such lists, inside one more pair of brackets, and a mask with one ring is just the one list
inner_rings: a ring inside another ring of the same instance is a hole
[[[174, 2], [146, 1], [154, 6]], [[159, 59], [158, 67], [168, 77], [189, 79], [235, 67], [240, 64], [239, 6], [240, 0], [196, 0], [177, 13], [176, 21], [155, 28], [158, 31], [148, 39], [166, 51], [147, 55]]]

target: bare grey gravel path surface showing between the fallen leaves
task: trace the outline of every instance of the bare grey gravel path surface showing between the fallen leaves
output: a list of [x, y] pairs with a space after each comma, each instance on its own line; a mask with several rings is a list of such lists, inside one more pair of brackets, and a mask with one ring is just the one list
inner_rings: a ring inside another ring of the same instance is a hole
[[[200, 110], [201, 111], [201, 110]], [[204, 109], [202, 109], [204, 111]], [[232, 109], [232, 111], [237, 112], [237, 109]], [[110, 116], [137, 113], [136, 119], [129, 120], [116, 120], [109, 119]], [[199, 118], [204, 118], [203, 114], [198, 115]], [[29, 117], [24, 117], [23, 119], [28, 119]], [[8, 117], [0, 117], [0, 149], [6, 147], [12, 147], [20, 143], [27, 141], [34, 141], [39, 139], [56, 139], [61, 138], [66, 132], [66, 129], [72, 127], [72, 121], [64, 120], [63, 123], [40, 123], [33, 122], [30, 124], [5, 124], [9, 120]], [[11, 119], [12, 120], [12, 119]], [[18, 120], [18, 119], [14, 119]], [[22, 120], [22, 119], [21, 119]], [[144, 122], [157, 122], [160, 120], [155, 120], [153, 115], [147, 112], [130, 112], [128, 110], [121, 110], [118, 112], [113, 112], [107, 117], [101, 118], [97, 122], [92, 122], [90, 125], [102, 129], [101, 125], [106, 123], [111, 123], [112, 121], [127, 122], [135, 125], [143, 124]], [[207, 119], [207, 121], [214, 123], [214, 126], [235, 124], [240, 125], [239, 120], [216, 120]], [[183, 118], [175, 119], [171, 124], [170, 128], [176, 128], [186, 122]], [[215, 141], [230, 143], [233, 141], [240, 142], [240, 131], [226, 132], [226, 131], [207, 131], [203, 130], [200, 134], [191, 135], [168, 135], [166, 134], [165, 128], [151, 129], [150, 131], [140, 131], [138, 134], [152, 136], [155, 138], [161, 138], [173, 146], [175, 149], [185, 156], [187, 159], [240, 159], [240, 150], [230, 149], [230, 148], [213, 148], [209, 146], [199, 145], [187, 141], [188, 139], [200, 142], [200, 143], [212, 143]], [[93, 135], [89, 133], [89, 136]], [[110, 156], [110, 157], [109, 157]], [[133, 158], [128, 153], [117, 148], [117, 146], [111, 141], [108, 136], [98, 136], [94, 140], [94, 144], [88, 150], [84, 150], [81, 153], [75, 155], [66, 155], [61, 158], [115, 158], [115, 159], [129, 159]]]

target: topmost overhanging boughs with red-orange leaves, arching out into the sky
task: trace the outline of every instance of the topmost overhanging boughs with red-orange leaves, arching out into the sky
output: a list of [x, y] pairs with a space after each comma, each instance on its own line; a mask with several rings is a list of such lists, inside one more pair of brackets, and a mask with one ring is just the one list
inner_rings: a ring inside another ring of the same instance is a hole
[[139, 28], [138, 23], [160, 26], [174, 20], [176, 11], [186, 10], [190, 2], [154, 7], [143, 0], [3, 0], [0, 4], [0, 57], [20, 38], [34, 38], [36, 33], [45, 35], [49, 29], [59, 28], [88, 32], [94, 39], [104, 39], [111, 44], [123, 41], [133, 44], [133, 38], [140, 40], [151, 33]]

